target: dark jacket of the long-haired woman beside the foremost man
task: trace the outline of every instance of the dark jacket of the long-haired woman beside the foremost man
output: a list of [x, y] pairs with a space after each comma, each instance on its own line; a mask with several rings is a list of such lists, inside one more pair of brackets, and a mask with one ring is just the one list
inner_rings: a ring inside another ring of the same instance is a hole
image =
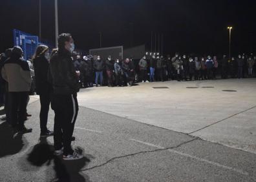
[[33, 60], [35, 79], [36, 79], [36, 93], [48, 94], [52, 91], [52, 86], [48, 83], [47, 74], [49, 62], [45, 56], [36, 57]]

